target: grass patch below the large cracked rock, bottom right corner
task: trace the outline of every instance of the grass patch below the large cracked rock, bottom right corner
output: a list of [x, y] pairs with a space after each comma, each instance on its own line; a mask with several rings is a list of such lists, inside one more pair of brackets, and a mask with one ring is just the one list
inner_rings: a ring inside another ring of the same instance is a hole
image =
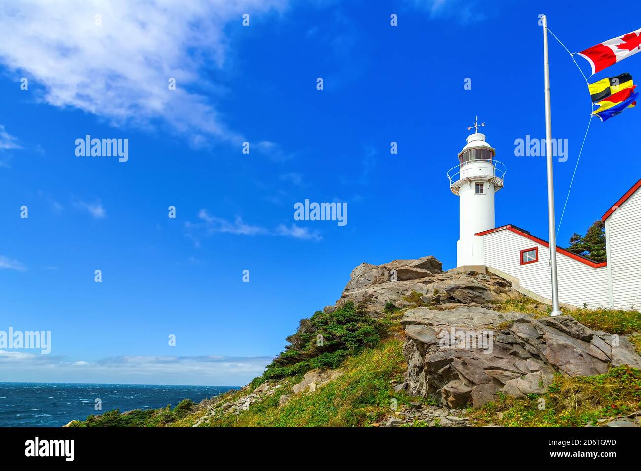
[[[544, 408], [542, 408], [544, 406]], [[598, 418], [619, 417], [641, 409], [641, 371], [611, 368], [591, 377], [554, 378], [545, 394], [523, 399], [499, 395], [479, 409], [469, 409], [475, 426], [582, 427]]]

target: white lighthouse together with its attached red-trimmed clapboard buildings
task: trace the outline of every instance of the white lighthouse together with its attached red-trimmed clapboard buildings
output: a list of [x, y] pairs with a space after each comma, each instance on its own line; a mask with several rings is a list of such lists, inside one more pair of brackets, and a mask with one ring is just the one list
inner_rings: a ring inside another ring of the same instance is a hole
[[[454, 270], [487, 270], [549, 302], [549, 244], [512, 224], [495, 226], [494, 194], [503, 188], [505, 167], [494, 154], [477, 129], [447, 174], [460, 202]], [[556, 247], [559, 301], [578, 308], [641, 310], [641, 179], [602, 219], [608, 261], [597, 263]]]

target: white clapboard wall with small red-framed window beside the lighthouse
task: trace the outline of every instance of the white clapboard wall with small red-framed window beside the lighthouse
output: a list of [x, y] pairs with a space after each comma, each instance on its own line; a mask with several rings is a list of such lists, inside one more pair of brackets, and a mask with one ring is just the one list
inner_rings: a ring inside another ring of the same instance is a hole
[[[547, 299], [552, 298], [549, 249], [508, 229], [483, 236], [485, 265], [519, 279], [528, 288]], [[538, 247], [538, 261], [520, 264], [520, 251]], [[593, 268], [569, 256], [556, 254], [559, 301], [572, 306], [607, 308], [610, 304], [607, 267]]]

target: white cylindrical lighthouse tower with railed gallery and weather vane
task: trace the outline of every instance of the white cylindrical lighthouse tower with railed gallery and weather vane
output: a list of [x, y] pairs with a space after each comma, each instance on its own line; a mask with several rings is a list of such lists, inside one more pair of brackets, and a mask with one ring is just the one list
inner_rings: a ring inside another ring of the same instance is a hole
[[494, 229], [494, 193], [503, 188], [505, 165], [494, 159], [495, 149], [478, 132], [474, 133], [458, 153], [458, 165], [447, 172], [449, 188], [459, 197], [459, 235], [456, 242], [456, 266], [485, 265], [483, 241], [476, 233]]

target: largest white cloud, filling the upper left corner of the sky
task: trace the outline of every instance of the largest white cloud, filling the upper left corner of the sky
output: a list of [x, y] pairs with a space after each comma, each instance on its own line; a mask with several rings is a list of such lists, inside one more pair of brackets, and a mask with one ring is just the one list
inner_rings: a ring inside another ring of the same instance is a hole
[[[222, 69], [224, 29], [243, 13], [280, 12], [287, 0], [22, 0], [0, 3], [0, 62], [44, 86], [42, 100], [114, 125], [159, 120], [194, 145], [240, 140], [197, 87]], [[96, 25], [101, 15], [101, 26]], [[251, 26], [250, 26], [251, 28]], [[169, 78], [176, 90], [169, 90]], [[204, 84], [204, 85], [203, 85]], [[31, 83], [29, 84], [31, 90]], [[208, 93], [211, 95], [212, 93]]]

